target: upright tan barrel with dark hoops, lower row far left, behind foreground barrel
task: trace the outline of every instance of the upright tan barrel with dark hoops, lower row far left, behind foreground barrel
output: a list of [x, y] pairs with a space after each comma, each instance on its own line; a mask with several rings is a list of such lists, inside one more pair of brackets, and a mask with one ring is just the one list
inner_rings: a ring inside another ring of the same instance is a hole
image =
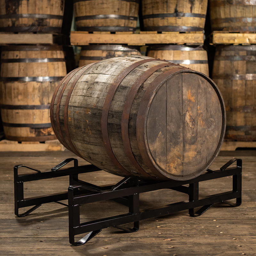
[[50, 102], [56, 86], [66, 74], [61, 46], [3, 47], [0, 108], [7, 140], [55, 139]]

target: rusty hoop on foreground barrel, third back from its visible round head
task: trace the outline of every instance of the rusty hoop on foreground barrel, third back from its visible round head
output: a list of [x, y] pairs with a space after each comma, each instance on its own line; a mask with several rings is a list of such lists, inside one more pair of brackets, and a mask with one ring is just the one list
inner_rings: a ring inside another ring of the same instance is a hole
[[145, 60], [140, 60], [135, 63], [133, 63], [131, 66], [125, 68], [123, 72], [116, 78], [115, 82], [111, 85], [108, 94], [106, 96], [103, 108], [102, 108], [102, 116], [101, 116], [101, 132], [102, 132], [102, 137], [103, 137], [103, 142], [104, 146], [106, 148], [106, 151], [108, 153], [109, 158], [111, 161], [118, 167], [122, 172], [124, 172], [126, 175], [131, 175], [130, 172], [128, 172], [116, 159], [116, 156], [114, 155], [110, 140], [109, 140], [109, 135], [108, 135], [108, 112], [110, 105], [112, 103], [113, 97], [115, 95], [116, 89], [118, 88], [119, 84], [123, 81], [123, 79], [130, 73], [132, 72], [133, 69], [137, 68], [141, 64], [144, 64], [149, 61], [155, 61], [156, 59], [145, 59]]

